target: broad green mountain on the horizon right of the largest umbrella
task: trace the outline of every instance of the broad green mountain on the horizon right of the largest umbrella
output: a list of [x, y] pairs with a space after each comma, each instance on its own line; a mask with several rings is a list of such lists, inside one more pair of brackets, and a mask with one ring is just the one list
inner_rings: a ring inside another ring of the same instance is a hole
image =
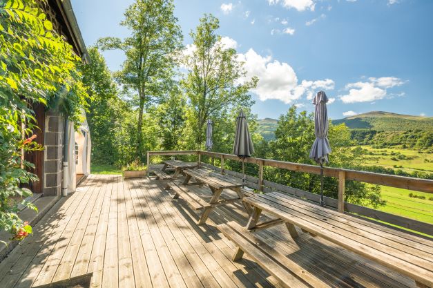
[[332, 124], [345, 123], [351, 129], [376, 131], [433, 131], [433, 117], [412, 116], [383, 111], [372, 111], [344, 119], [333, 120]]

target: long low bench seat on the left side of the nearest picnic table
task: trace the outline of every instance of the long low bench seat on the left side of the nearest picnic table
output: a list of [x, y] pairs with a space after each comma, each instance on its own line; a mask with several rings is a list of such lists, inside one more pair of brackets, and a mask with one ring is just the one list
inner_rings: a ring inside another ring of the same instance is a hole
[[283, 287], [329, 287], [296, 262], [285, 257], [251, 232], [232, 221], [219, 224], [218, 229], [238, 246], [233, 261], [247, 253], [264, 270], [275, 277]]

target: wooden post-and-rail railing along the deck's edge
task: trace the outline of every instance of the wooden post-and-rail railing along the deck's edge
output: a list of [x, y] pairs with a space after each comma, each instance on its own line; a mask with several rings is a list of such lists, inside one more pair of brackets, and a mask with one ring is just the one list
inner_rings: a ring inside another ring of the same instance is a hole
[[[236, 155], [215, 153], [208, 151], [149, 151], [147, 153], [147, 163], [151, 163], [151, 156], [155, 155], [197, 155], [198, 162], [202, 166], [206, 166], [209, 169], [220, 171], [221, 173], [227, 173], [236, 177], [242, 177], [242, 174], [225, 169], [224, 161], [242, 161]], [[204, 164], [201, 162], [202, 155], [206, 155], [213, 159], [220, 159], [220, 167], [216, 167], [209, 164]], [[289, 171], [298, 171], [301, 173], [311, 173], [320, 174], [320, 166], [309, 165], [309, 164], [299, 164], [278, 160], [261, 159], [255, 157], [249, 157], [244, 160], [245, 163], [251, 163], [258, 165], [258, 177], [253, 177], [247, 175], [246, 180], [248, 186], [253, 189], [262, 191], [264, 193], [271, 191], [282, 191], [285, 193], [290, 193], [298, 197], [306, 198], [307, 200], [319, 201], [319, 195], [316, 193], [311, 193], [307, 191], [302, 191], [300, 189], [295, 189], [293, 187], [285, 186], [282, 184], [277, 184], [274, 182], [269, 182], [263, 179], [263, 167], [270, 166], [278, 169], [287, 169]], [[355, 171], [350, 169], [339, 169], [324, 167], [323, 173], [328, 177], [338, 178], [338, 199], [325, 197], [325, 202], [327, 206], [332, 207], [340, 211], [341, 213], [356, 213], [358, 215], [363, 215], [369, 218], [374, 218], [376, 220], [381, 220], [383, 222], [398, 225], [400, 227], [405, 227], [414, 231], [421, 233], [426, 233], [432, 235], [433, 225], [425, 222], [420, 222], [405, 218], [399, 215], [394, 215], [390, 213], [385, 213], [368, 207], [359, 206], [356, 204], [345, 202], [345, 182], [346, 180], [354, 180], [359, 182], [365, 182], [369, 184], [378, 184], [383, 186], [396, 187], [401, 189], [408, 189], [413, 191], [421, 191], [427, 193], [433, 193], [433, 180], [420, 179], [414, 177], [403, 177], [396, 175], [387, 175], [381, 173], [365, 172], [365, 171]]]

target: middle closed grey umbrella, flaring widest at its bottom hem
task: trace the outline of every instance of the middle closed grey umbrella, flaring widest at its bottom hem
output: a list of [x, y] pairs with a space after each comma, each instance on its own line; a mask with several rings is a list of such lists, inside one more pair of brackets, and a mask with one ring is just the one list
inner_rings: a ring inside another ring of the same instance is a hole
[[235, 143], [233, 144], [233, 154], [242, 159], [242, 183], [245, 182], [244, 160], [246, 157], [251, 157], [254, 153], [253, 140], [249, 134], [247, 117], [244, 111], [240, 111], [236, 118], [236, 133]]

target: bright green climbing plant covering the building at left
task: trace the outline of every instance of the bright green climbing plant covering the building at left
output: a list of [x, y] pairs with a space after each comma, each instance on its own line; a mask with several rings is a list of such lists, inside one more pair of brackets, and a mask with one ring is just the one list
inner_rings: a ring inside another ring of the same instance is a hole
[[31, 233], [13, 199], [31, 195], [21, 187], [37, 181], [26, 171], [32, 164], [21, 160], [23, 151], [40, 148], [34, 137], [26, 139], [37, 129], [32, 105], [56, 107], [78, 122], [87, 97], [78, 62], [72, 47], [52, 30], [39, 1], [0, 1], [0, 229], [16, 234], [15, 240]]

